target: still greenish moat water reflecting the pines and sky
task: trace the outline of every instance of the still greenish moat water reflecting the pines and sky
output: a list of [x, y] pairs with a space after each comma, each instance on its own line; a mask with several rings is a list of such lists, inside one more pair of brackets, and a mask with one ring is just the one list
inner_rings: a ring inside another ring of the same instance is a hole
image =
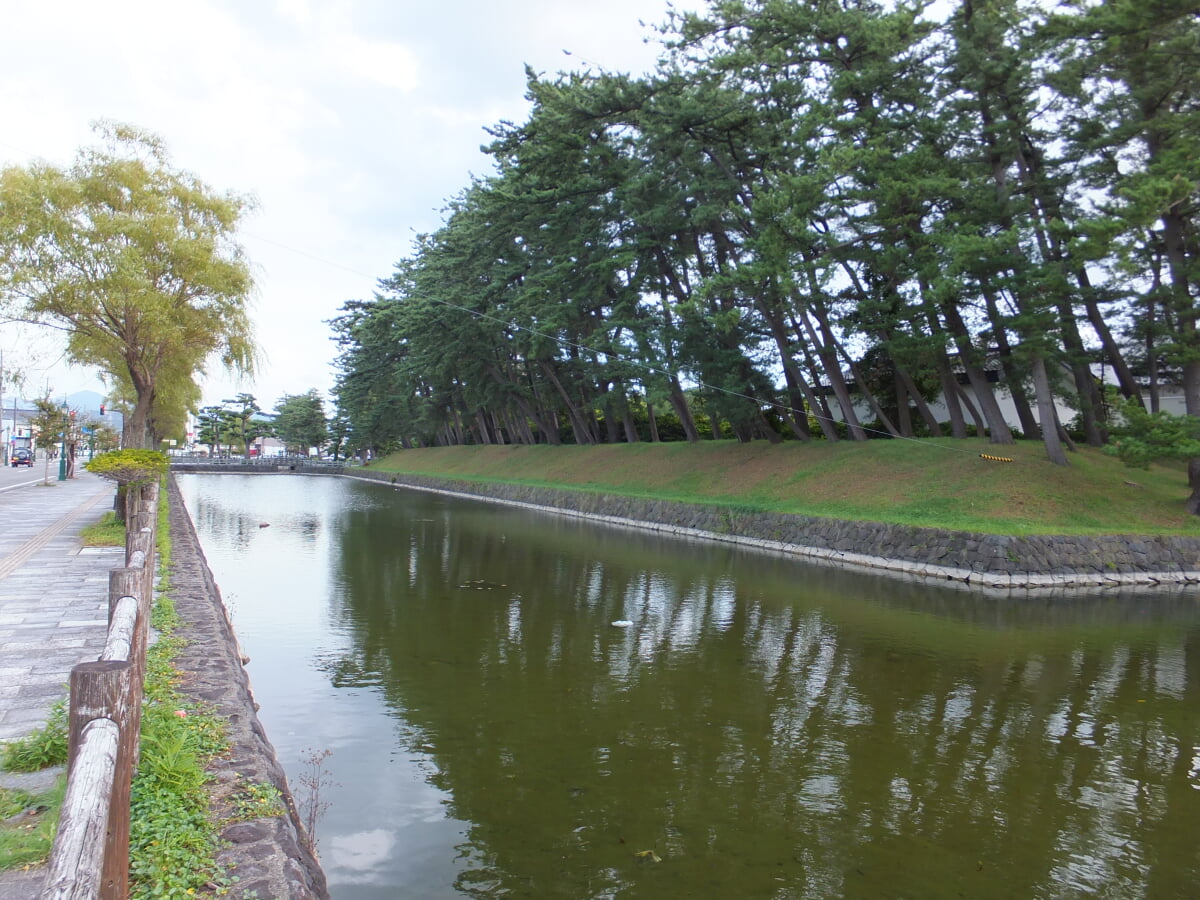
[[990, 596], [347, 479], [179, 481], [298, 794], [332, 751], [337, 900], [1200, 886], [1195, 592]]

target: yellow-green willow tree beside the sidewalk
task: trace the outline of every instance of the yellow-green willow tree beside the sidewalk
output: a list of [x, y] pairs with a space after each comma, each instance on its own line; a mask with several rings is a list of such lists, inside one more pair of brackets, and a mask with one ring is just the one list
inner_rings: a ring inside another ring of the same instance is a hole
[[74, 362], [98, 367], [133, 403], [126, 446], [152, 446], [162, 408], [193, 396], [214, 356], [253, 368], [253, 281], [235, 240], [250, 200], [174, 168], [163, 143], [96, 126], [102, 146], [70, 168], [0, 172], [0, 307], [61, 329]]

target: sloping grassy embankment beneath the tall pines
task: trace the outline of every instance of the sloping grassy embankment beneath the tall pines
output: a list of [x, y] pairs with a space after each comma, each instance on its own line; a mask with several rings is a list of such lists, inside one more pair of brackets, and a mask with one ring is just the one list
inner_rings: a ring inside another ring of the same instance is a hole
[[[991, 462], [979, 454], [1012, 457]], [[403, 450], [384, 472], [734, 505], [992, 534], [1188, 534], [1183, 466], [1130, 469], [1080, 448], [1054, 466], [1038, 442], [606, 444]]]

